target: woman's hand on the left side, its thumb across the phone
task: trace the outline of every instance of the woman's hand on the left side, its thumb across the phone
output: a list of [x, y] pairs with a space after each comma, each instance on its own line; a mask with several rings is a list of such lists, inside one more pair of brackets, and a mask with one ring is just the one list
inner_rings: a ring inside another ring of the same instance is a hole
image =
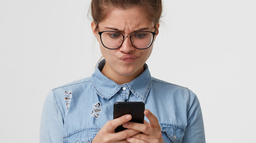
[[124, 115], [117, 119], [107, 121], [106, 124], [99, 130], [97, 135], [94, 137], [92, 143], [127, 143], [126, 138], [136, 135], [139, 132], [131, 129], [126, 129], [124, 131], [116, 133], [115, 129], [131, 119], [131, 115]]

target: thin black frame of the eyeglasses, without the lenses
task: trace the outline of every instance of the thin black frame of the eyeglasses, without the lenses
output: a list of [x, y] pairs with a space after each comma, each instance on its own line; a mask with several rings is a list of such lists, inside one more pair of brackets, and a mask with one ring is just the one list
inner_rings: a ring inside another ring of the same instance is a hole
[[[102, 40], [101, 40], [101, 34], [102, 34], [103, 32], [117, 32], [117, 31], [99, 31], [99, 30], [98, 30], [98, 34], [99, 34], [100, 41], [101, 41], [102, 45], [103, 45], [105, 48], [108, 48], [108, 47], [106, 47], [106, 46], [103, 44], [103, 42], [102, 42]], [[151, 41], [151, 44], [150, 44], [148, 47], [143, 48], [143, 49], [149, 48], [149, 47], [152, 45], [153, 41], [154, 41], [154, 38], [155, 38], [155, 35], [156, 35], [156, 31], [154, 31], [154, 32], [151, 32], [151, 31], [139, 31], [139, 32], [150, 32], [150, 33], [153, 34], [153, 39], [152, 39], [152, 41]], [[136, 34], [136, 33], [139, 33], [139, 32], [135, 32], [135, 33], [133, 33], [133, 34]], [[117, 32], [117, 33], [120, 33], [120, 32]], [[132, 36], [133, 36], [133, 34], [130, 35], [130, 36], [124, 36], [122, 33], [120, 33], [120, 34], [123, 36], [123, 41], [124, 41], [124, 38], [125, 38], [125, 37], [130, 37], [130, 41], [131, 41], [131, 43], [132, 43]], [[121, 45], [120, 45], [119, 47], [122, 46], [123, 41], [122, 41], [122, 43], [121, 43]], [[132, 45], [133, 45], [133, 43], [132, 43]], [[119, 48], [119, 47], [117, 47], [117, 48]], [[133, 45], [133, 47], [136, 48], [134, 45]], [[108, 48], [108, 49], [117, 49], [117, 48]], [[139, 48], [136, 48], [136, 49], [139, 49]]]

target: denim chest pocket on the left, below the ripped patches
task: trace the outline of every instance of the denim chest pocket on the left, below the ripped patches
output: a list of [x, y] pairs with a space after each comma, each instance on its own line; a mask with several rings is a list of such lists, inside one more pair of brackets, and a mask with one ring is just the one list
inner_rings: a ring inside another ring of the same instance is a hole
[[63, 143], [90, 143], [99, 128], [83, 128], [63, 136]]

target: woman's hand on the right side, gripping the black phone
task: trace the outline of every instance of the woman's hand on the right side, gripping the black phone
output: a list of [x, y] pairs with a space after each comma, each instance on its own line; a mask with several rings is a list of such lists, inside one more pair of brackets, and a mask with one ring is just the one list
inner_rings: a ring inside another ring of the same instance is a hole
[[150, 123], [144, 120], [144, 124], [135, 122], [126, 122], [123, 124], [125, 128], [143, 133], [128, 137], [126, 140], [130, 143], [163, 143], [161, 127], [157, 117], [148, 109], [144, 111], [144, 115], [148, 118]]

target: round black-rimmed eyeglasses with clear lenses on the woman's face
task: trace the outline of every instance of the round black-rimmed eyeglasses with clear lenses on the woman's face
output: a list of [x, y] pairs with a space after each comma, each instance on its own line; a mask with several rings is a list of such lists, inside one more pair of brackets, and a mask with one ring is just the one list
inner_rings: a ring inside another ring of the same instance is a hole
[[125, 37], [130, 37], [132, 45], [137, 49], [146, 49], [153, 43], [156, 31], [140, 31], [135, 32], [131, 36], [124, 36], [123, 34], [116, 31], [98, 31], [101, 43], [108, 49], [119, 48], [124, 41]]

